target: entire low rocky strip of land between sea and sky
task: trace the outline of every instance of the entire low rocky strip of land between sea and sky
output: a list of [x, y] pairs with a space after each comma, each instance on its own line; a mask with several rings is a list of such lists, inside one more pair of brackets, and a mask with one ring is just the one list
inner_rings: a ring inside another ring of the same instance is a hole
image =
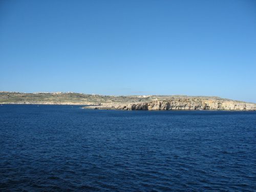
[[256, 103], [220, 97], [185, 95], [96, 95], [73, 92], [0, 92], [0, 104], [69, 104], [98, 110], [229, 110], [255, 111]]

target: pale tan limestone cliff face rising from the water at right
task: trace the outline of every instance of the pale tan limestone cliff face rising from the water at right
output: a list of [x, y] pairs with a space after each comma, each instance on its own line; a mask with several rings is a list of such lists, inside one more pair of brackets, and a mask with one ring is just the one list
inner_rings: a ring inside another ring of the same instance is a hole
[[113, 106], [119, 110], [256, 110], [255, 103], [233, 100], [179, 98]]

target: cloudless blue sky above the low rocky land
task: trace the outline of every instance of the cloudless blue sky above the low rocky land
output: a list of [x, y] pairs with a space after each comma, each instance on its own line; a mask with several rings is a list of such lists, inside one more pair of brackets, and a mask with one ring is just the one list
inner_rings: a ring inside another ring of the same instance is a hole
[[0, 90], [256, 102], [256, 1], [0, 1]]

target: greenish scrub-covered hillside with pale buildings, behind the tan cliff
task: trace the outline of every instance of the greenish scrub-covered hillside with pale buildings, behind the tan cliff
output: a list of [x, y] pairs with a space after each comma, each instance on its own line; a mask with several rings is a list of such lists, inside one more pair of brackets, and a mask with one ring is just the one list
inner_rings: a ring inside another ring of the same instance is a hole
[[[112, 103], [112, 102], [149, 102], [153, 100], [165, 100], [171, 98], [191, 98], [190, 96], [171, 95], [171, 96], [103, 96], [89, 95], [81, 93], [19, 93], [19, 92], [0, 92], [0, 103]], [[197, 97], [214, 98], [219, 97]]]

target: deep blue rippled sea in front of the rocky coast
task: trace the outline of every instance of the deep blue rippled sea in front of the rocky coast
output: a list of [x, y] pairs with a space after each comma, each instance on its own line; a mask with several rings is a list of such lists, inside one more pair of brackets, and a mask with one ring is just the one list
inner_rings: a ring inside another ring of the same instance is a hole
[[1, 191], [255, 191], [256, 112], [0, 106]]

